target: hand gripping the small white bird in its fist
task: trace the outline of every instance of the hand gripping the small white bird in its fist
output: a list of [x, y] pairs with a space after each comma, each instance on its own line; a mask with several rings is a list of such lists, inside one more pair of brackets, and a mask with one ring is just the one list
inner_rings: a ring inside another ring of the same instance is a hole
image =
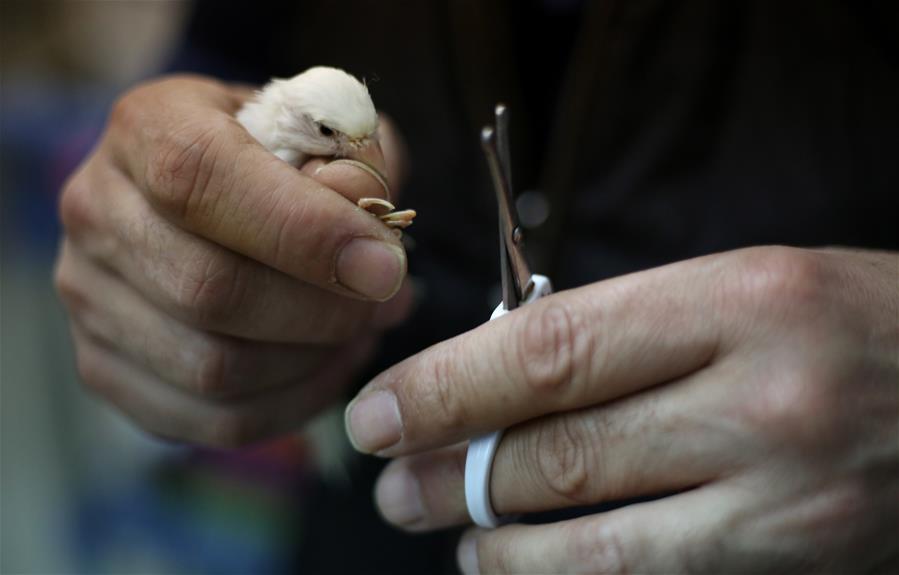
[[[164, 437], [297, 427], [411, 301], [402, 245], [355, 205], [381, 185], [277, 159], [233, 118], [249, 95], [199, 77], [132, 90], [60, 200], [55, 280], [81, 378]], [[395, 141], [379, 166], [394, 176]]]

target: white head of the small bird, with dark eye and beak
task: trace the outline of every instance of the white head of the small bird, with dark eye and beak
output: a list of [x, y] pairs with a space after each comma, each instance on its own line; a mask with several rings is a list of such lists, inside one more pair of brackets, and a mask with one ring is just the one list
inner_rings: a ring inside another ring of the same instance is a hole
[[[343, 70], [310, 68], [265, 90], [278, 147], [368, 161], [378, 145], [378, 114], [365, 85]], [[262, 103], [262, 102], [260, 102]]]

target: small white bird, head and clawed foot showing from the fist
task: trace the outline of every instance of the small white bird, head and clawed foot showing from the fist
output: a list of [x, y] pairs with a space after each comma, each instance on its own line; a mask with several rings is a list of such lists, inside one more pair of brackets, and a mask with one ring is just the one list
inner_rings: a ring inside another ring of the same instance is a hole
[[[378, 142], [378, 113], [368, 88], [337, 68], [316, 66], [284, 80], [275, 78], [237, 113], [250, 134], [285, 162], [301, 167], [311, 156], [331, 156], [366, 171], [390, 190]], [[389, 201], [363, 198], [359, 207], [403, 229], [413, 210], [396, 212]]]

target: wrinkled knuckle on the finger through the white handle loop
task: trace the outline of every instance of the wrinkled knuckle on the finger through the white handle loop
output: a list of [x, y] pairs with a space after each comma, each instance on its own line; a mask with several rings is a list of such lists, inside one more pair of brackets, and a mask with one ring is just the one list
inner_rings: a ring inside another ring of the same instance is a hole
[[591, 502], [592, 439], [578, 417], [560, 417], [533, 434], [530, 458], [538, 484], [574, 504]]

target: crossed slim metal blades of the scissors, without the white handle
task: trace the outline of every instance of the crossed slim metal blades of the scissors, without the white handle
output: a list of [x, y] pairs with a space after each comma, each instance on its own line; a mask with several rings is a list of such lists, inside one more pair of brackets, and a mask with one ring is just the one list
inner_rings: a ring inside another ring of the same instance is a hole
[[531, 272], [523, 252], [523, 235], [518, 225], [509, 175], [508, 116], [502, 105], [496, 107], [496, 129], [481, 131], [481, 144], [487, 156], [490, 176], [499, 206], [500, 262], [503, 282], [503, 304], [507, 310], [518, 307], [531, 289]]

